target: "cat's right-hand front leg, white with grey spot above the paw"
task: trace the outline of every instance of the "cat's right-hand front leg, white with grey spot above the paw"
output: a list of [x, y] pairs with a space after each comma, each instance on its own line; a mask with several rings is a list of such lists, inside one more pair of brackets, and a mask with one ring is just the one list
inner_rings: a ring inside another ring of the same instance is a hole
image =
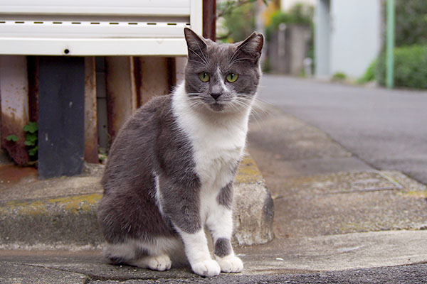
[[222, 272], [237, 273], [243, 271], [243, 262], [231, 246], [233, 234], [232, 184], [223, 187], [216, 198], [216, 206], [210, 212], [206, 224], [211, 230], [214, 241], [214, 256]]

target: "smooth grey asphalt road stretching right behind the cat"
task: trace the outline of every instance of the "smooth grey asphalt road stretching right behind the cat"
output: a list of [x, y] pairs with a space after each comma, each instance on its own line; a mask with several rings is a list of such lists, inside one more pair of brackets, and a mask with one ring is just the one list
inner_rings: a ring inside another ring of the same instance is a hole
[[427, 184], [427, 92], [264, 75], [258, 93], [372, 167]]

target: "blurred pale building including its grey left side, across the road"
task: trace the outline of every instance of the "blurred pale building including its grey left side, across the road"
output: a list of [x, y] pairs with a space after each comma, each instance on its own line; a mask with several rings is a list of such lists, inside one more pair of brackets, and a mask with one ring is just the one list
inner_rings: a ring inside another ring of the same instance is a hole
[[381, 0], [318, 0], [316, 76], [361, 77], [381, 50]]

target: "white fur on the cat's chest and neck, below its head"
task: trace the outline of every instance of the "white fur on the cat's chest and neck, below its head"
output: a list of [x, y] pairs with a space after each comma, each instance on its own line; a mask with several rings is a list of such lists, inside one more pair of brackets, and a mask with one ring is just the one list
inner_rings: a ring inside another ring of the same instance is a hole
[[233, 180], [233, 171], [243, 155], [250, 110], [239, 114], [201, 114], [189, 107], [183, 85], [174, 93], [173, 108], [179, 127], [192, 143], [202, 190], [221, 190]]

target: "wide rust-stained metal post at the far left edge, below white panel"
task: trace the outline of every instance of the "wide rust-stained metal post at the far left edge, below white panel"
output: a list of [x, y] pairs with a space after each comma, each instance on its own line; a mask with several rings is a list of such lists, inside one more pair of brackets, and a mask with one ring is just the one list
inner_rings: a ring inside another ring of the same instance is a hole
[[[28, 123], [28, 76], [25, 56], [0, 56], [1, 147], [19, 165], [29, 162], [23, 126]], [[18, 141], [7, 141], [15, 135]]]

